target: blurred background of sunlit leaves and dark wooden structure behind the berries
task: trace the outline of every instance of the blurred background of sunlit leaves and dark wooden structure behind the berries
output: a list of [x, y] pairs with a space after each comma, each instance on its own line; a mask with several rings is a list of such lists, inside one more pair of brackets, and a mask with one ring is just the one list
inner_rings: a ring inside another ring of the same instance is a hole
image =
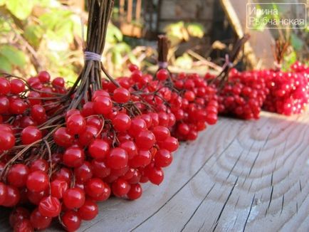
[[[283, 68], [295, 60], [308, 63], [309, 27], [248, 29], [248, 2], [115, 0], [103, 63], [115, 77], [126, 75], [129, 63], [155, 70], [161, 33], [169, 38], [169, 65], [175, 73], [218, 72], [225, 54], [244, 33], [251, 39], [237, 60], [240, 69], [273, 67], [271, 45], [276, 39], [290, 43]], [[308, 1], [286, 2], [308, 7]], [[298, 14], [293, 8], [288, 11]], [[87, 19], [86, 0], [0, 0], [0, 71], [29, 77], [48, 70], [53, 77], [73, 81], [83, 65]]]

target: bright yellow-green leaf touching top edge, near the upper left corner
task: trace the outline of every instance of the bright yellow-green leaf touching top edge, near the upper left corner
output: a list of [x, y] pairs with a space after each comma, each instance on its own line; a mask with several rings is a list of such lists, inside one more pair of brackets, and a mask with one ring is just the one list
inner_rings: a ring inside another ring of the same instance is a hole
[[[1, 1], [1, 0], [0, 0]], [[11, 14], [14, 14], [16, 18], [24, 20], [27, 19], [31, 14], [34, 0], [6, 0], [6, 8], [11, 11]]]

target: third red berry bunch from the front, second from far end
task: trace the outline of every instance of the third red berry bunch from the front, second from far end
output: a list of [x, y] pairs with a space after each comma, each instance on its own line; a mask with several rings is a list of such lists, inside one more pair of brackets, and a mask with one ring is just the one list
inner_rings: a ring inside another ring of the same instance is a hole
[[[211, 75], [206, 75], [206, 79], [211, 80]], [[243, 120], [258, 119], [268, 89], [266, 81], [259, 78], [256, 71], [238, 72], [233, 68], [228, 80], [216, 85], [219, 88], [219, 113]]]

